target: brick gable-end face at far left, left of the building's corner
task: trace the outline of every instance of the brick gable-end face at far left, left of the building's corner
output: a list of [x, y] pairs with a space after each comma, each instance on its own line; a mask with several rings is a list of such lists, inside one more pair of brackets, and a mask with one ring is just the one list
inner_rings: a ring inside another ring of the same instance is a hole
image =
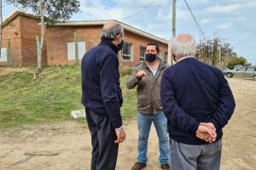
[[[16, 35], [15, 32], [18, 34]], [[2, 35], [2, 48], [7, 48], [7, 62], [0, 62], [0, 65], [9, 65], [8, 39], [10, 39], [12, 65], [22, 65], [20, 48], [20, 16], [17, 16], [14, 20], [11, 20], [8, 26], [3, 26]]]

